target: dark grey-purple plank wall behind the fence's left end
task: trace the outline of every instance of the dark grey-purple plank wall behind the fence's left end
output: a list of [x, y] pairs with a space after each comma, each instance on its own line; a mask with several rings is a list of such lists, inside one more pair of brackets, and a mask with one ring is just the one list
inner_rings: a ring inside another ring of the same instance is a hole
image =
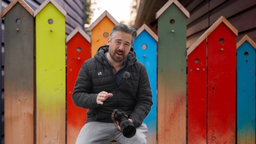
[[[34, 11], [39, 7], [44, 0], [24, 0]], [[12, 0], [2, 0], [1, 10], [10, 4]], [[62, 8], [67, 12], [66, 16], [66, 36], [68, 36], [77, 26], [84, 28], [84, 0], [56, 0]], [[2, 122], [1, 136], [2, 144], [4, 144], [4, 18], [2, 19]]]

